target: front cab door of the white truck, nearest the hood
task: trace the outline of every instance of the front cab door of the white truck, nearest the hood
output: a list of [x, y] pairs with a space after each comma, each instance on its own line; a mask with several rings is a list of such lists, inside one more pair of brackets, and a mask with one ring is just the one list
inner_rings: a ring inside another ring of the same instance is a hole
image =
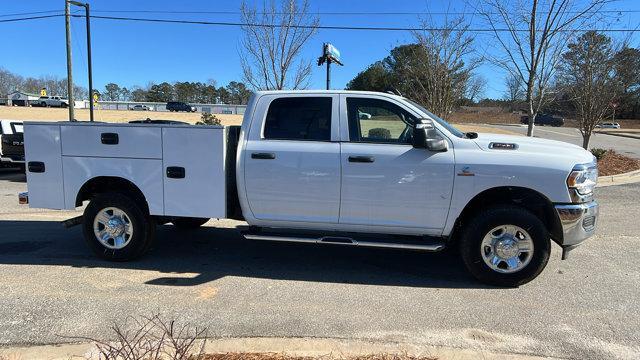
[[439, 234], [453, 188], [453, 149], [414, 148], [417, 116], [391, 99], [341, 97], [348, 141], [341, 143], [340, 223]]

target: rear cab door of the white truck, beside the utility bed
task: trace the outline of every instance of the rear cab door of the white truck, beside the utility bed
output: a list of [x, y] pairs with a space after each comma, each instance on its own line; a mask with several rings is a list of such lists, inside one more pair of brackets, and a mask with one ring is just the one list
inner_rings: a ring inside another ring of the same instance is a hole
[[245, 193], [254, 218], [338, 222], [338, 99], [299, 94], [257, 100], [243, 153]]

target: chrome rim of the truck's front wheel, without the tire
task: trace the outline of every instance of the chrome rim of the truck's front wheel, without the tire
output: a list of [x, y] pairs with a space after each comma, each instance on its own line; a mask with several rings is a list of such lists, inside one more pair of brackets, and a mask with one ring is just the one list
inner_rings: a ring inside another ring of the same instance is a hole
[[524, 269], [533, 257], [533, 241], [524, 229], [515, 225], [500, 225], [491, 229], [480, 245], [485, 264], [499, 273], [514, 273]]

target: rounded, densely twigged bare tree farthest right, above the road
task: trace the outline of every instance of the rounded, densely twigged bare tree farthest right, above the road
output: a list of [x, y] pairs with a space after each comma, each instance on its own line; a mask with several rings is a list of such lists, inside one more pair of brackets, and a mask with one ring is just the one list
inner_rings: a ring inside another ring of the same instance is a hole
[[587, 31], [562, 56], [559, 77], [569, 95], [582, 134], [582, 147], [589, 147], [593, 129], [612, 111], [618, 95], [614, 73], [615, 49], [611, 38]]

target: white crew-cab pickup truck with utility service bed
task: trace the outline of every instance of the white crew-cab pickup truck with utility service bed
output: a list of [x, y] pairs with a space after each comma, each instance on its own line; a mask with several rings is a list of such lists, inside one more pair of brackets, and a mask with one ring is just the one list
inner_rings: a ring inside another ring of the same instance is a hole
[[[361, 116], [360, 114], [369, 116]], [[463, 133], [392, 94], [261, 91], [241, 127], [25, 123], [31, 207], [89, 201], [84, 237], [130, 260], [157, 224], [248, 223], [247, 239], [439, 251], [518, 286], [595, 230], [597, 168], [567, 143]]]

